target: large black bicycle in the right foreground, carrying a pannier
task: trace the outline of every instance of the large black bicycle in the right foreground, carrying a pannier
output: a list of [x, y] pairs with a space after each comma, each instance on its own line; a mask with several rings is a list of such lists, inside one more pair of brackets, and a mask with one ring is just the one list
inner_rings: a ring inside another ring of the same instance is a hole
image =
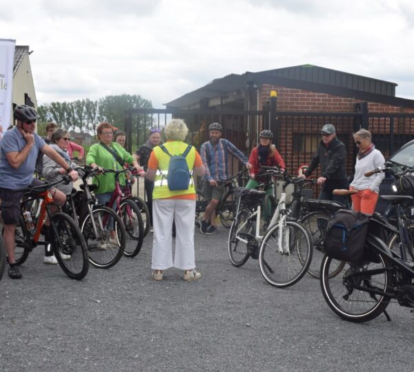
[[[372, 172], [384, 172], [376, 169]], [[386, 170], [390, 170], [386, 168]], [[341, 318], [351, 322], [373, 320], [384, 312], [391, 300], [404, 307], [414, 308], [414, 265], [408, 260], [408, 242], [405, 239], [406, 221], [398, 205], [413, 203], [412, 196], [380, 196], [395, 206], [397, 232], [384, 218], [373, 214], [369, 218], [364, 257], [358, 262], [344, 262], [341, 273], [331, 276], [331, 265], [336, 260], [324, 257], [321, 266], [321, 288], [328, 306]], [[397, 234], [399, 252], [392, 251], [378, 235], [386, 230]]]

